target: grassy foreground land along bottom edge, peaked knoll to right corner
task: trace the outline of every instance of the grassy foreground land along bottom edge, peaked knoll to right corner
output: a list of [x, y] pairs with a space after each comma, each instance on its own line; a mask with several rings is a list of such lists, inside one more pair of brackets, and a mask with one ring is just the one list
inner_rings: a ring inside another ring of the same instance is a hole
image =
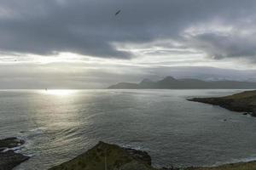
[[162, 167], [157, 169], [151, 166], [151, 158], [148, 153], [119, 147], [116, 144], [99, 142], [92, 149], [77, 156], [71, 161], [49, 170], [253, 170], [256, 162], [241, 162], [223, 165], [220, 167]]

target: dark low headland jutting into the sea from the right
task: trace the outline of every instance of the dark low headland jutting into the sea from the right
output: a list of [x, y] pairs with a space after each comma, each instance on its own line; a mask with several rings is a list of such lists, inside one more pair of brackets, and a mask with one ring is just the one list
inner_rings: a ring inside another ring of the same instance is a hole
[[256, 90], [219, 98], [194, 98], [188, 100], [218, 105], [230, 111], [238, 111], [243, 112], [244, 115], [256, 116]]

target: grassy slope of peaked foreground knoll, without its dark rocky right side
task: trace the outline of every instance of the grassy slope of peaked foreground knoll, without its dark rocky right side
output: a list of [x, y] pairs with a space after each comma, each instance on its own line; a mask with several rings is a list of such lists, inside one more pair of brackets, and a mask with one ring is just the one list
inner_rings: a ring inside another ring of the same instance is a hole
[[96, 144], [95, 147], [77, 156], [73, 160], [66, 161], [49, 170], [104, 170], [105, 154], [107, 155], [108, 170], [133, 169], [132, 167], [140, 167], [142, 170], [154, 170], [154, 168], [147, 163], [137, 161], [131, 157], [118, 145], [103, 142]]

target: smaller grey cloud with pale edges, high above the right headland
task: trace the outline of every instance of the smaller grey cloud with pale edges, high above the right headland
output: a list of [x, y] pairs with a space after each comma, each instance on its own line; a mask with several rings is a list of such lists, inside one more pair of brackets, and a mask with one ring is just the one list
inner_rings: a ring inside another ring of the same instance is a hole
[[189, 37], [189, 46], [201, 49], [213, 59], [246, 58], [256, 61], [255, 33], [245, 36], [203, 33]]

